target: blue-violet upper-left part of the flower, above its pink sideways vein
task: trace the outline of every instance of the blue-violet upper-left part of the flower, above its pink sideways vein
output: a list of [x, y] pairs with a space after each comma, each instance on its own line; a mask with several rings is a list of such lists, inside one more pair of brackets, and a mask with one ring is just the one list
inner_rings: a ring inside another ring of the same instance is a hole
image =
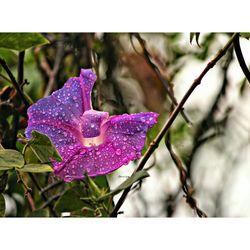
[[38, 122], [57, 122], [79, 126], [84, 111], [91, 108], [91, 90], [96, 75], [89, 69], [82, 69], [80, 77], [72, 77], [64, 87], [51, 96], [40, 99], [28, 109], [29, 125]]

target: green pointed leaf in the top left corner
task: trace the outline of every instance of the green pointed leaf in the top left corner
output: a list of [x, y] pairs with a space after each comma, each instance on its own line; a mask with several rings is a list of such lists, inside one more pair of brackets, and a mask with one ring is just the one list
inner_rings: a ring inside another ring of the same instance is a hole
[[18, 51], [48, 44], [49, 41], [40, 33], [0, 33], [0, 47]]

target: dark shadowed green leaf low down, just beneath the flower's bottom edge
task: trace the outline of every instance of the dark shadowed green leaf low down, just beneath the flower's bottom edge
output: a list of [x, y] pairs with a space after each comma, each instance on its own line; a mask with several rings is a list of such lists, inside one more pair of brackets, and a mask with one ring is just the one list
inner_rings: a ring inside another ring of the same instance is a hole
[[84, 195], [82, 186], [74, 186], [65, 191], [65, 193], [57, 200], [55, 211], [57, 213], [72, 212], [83, 208], [86, 203], [80, 200]]

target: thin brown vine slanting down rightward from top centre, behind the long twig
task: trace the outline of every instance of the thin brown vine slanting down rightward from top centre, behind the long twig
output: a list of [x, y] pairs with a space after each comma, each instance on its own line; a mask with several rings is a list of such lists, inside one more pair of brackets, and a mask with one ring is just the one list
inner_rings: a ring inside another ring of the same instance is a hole
[[[142, 47], [142, 49], [143, 49], [143, 56], [144, 56], [146, 62], [147, 62], [147, 63], [149, 64], [149, 66], [153, 69], [153, 71], [155, 72], [157, 78], [160, 80], [160, 82], [161, 82], [161, 83], [163, 84], [163, 86], [165, 87], [166, 92], [167, 92], [168, 96], [170, 97], [172, 103], [173, 103], [175, 106], [177, 106], [177, 105], [178, 105], [178, 102], [177, 102], [177, 100], [176, 100], [176, 98], [175, 98], [175, 96], [174, 96], [174, 94], [173, 94], [173, 90], [171, 89], [170, 84], [169, 84], [168, 81], [161, 75], [160, 70], [158, 69], [158, 67], [157, 67], [157, 66], [151, 61], [151, 59], [150, 59], [152, 56], [150, 55], [150, 53], [149, 53], [148, 50], [146, 49], [146, 42], [145, 42], [145, 40], [143, 40], [143, 39], [141, 38], [141, 36], [140, 36], [138, 33], [137, 33], [137, 34], [133, 34], [133, 35], [137, 38], [137, 40], [139, 41], [139, 43], [140, 43], [140, 45], [141, 45], [141, 47]], [[130, 38], [131, 38], [131, 37], [130, 37]], [[133, 45], [132, 39], [131, 39], [131, 44], [132, 44], [132, 46], [133, 46], [135, 52], [136, 52], [137, 54], [141, 55], [141, 54], [135, 49], [135, 47], [134, 47], [134, 45]], [[192, 122], [191, 122], [190, 119], [187, 117], [186, 113], [184, 112], [184, 108], [182, 108], [180, 112], [181, 112], [181, 115], [182, 115], [183, 119], [184, 119], [188, 124], [191, 125]]]

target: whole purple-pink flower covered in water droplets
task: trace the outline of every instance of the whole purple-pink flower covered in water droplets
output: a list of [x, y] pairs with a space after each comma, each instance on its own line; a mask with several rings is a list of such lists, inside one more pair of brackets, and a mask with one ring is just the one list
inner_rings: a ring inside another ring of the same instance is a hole
[[54, 174], [64, 181], [110, 173], [129, 161], [139, 159], [147, 130], [158, 114], [141, 112], [110, 116], [92, 109], [91, 91], [96, 75], [82, 69], [64, 87], [40, 99], [28, 109], [28, 127], [46, 134], [61, 154], [53, 161]]

